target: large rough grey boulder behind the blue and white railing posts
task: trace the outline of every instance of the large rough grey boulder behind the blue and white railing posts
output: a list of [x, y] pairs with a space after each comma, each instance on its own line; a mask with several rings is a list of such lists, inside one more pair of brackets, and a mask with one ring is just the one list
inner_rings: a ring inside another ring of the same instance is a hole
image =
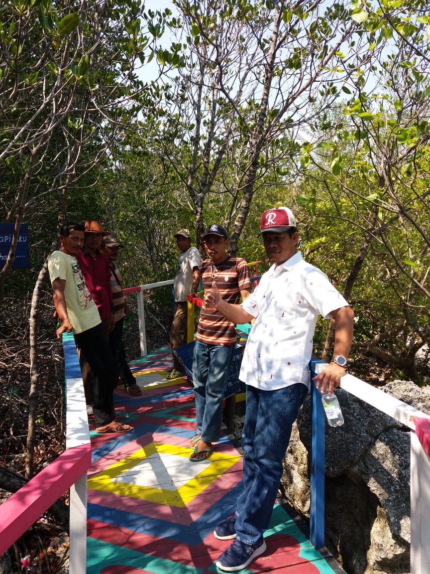
[[[430, 389], [393, 381], [386, 393], [430, 413]], [[326, 546], [348, 574], [409, 572], [409, 428], [346, 391], [345, 424], [326, 424]], [[309, 517], [311, 401], [307, 397], [284, 460], [288, 502]]]

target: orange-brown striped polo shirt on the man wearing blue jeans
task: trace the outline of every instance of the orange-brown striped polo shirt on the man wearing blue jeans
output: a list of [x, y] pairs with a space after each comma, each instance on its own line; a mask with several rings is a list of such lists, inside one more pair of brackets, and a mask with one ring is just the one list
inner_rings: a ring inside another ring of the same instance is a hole
[[[200, 265], [200, 275], [204, 289], [212, 289], [215, 281], [221, 297], [233, 305], [239, 303], [241, 290], [251, 289], [248, 263], [239, 257], [227, 257], [218, 265], [205, 259]], [[211, 345], [232, 345], [236, 343], [236, 331], [234, 324], [216, 309], [202, 307], [196, 338]]]

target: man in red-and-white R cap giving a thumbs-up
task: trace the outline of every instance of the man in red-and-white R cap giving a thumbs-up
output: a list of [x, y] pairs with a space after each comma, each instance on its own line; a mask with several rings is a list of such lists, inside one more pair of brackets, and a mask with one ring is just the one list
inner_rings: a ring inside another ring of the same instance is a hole
[[241, 305], [229, 305], [213, 284], [205, 305], [233, 323], [255, 319], [239, 378], [247, 383], [242, 447], [244, 490], [236, 512], [214, 531], [220, 540], [235, 539], [218, 558], [226, 572], [246, 568], [266, 549], [267, 529], [282, 477], [282, 461], [292, 424], [310, 387], [309, 361], [316, 319], [334, 317], [334, 356], [316, 378], [320, 391], [339, 386], [349, 354], [354, 313], [324, 273], [296, 251], [296, 220], [287, 207], [261, 217], [264, 249], [274, 265]]

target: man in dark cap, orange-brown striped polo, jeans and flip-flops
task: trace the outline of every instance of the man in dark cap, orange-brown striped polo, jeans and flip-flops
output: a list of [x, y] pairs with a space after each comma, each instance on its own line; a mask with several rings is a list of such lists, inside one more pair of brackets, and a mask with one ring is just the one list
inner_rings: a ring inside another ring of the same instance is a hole
[[[203, 239], [209, 255], [200, 265], [203, 288], [212, 289], [214, 281], [222, 299], [239, 304], [241, 296], [245, 299], [251, 293], [247, 262], [226, 253], [228, 238], [220, 225], [214, 223], [208, 227]], [[193, 357], [196, 436], [190, 441], [190, 447], [194, 448], [190, 460], [200, 462], [210, 456], [212, 443], [220, 438], [224, 385], [236, 343], [234, 324], [216, 309], [202, 307], [196, 339]]]

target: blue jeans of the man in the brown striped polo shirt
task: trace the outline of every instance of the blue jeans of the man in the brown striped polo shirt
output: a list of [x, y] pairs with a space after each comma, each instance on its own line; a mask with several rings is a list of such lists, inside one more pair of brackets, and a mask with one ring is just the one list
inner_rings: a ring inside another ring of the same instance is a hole
[[193, 385], [196, 400], [196, 432], [205, 443], [220, 439], [224, 386], [230, 371], [234, 345], [208, 345], [196, 341]]

